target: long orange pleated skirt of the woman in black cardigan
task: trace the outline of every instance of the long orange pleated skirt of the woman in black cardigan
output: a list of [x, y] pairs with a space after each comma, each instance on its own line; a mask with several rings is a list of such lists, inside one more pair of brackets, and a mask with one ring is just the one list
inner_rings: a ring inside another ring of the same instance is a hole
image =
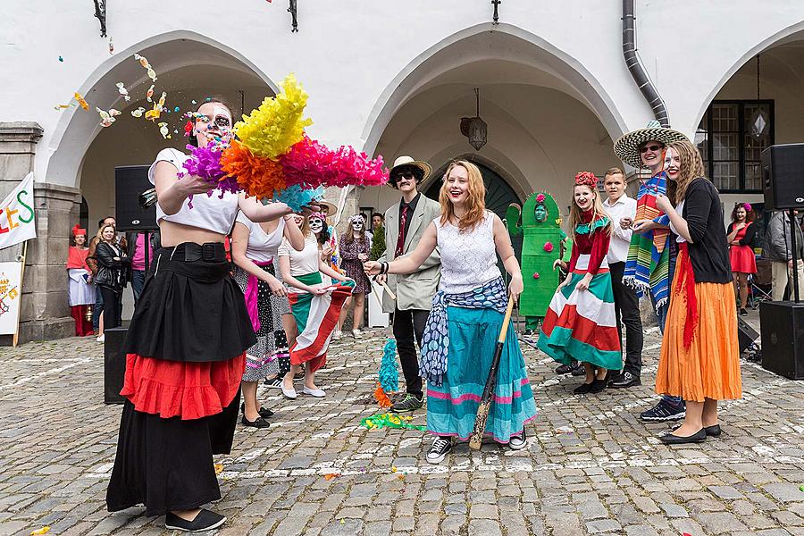
[[676, 284], [684, 277], [682, 255], [679, 254], [670, 294], [656, 392], [692, 402], [703, 402], [706, 398], [741, 398], [734, 286], [732, 283], [695, 283], [698, 322], [690, 348], [684, 348], [687, 297], [683, 284]]

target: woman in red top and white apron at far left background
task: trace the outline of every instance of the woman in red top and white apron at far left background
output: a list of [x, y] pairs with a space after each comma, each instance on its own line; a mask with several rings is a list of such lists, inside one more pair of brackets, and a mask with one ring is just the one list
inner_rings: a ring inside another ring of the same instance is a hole
[[67, 297], [75, 334], [84, 337], [92, 335], [92, 316], [87, 319], [87, 307], [95, 303], [95, 285], [89, 282], [91, 272], [87, 265], [87, 230], [75, 225], [72, 240], [75, 245], [67, 250]]

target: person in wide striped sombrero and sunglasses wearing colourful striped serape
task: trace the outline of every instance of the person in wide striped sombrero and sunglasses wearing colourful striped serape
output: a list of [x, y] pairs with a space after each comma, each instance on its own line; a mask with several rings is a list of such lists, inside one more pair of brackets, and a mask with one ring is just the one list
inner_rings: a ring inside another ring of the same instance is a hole
[[[656, 197], [666, 194], [667, 174], [665, 147], [668, 143], [687, 139], [681, 132], [666, 129], [658, 121], [649, 121], [644, 129], [633, 130], [617, 139], [614, 151], [624, 163], [637, 169], [650, 170], [650, 179], [641, 183], [637, 194], [637, 210], [632, 223], [633, 235], [628, 247], [623, 281], [637, 290], [639, 296], [649, 295], [658, 317], [659, 330], [664, 333], [668, 307], [668, 290], [675, 264], [674, 239], [670, 237], [669, 219], [656, 205]], [[624, 377], [613, 383], [622, 387], [638, 379]], [[641, 413], [644, 421], [660, 422], [683, 419], [681, 398], [664, 396], [658, 404]]]

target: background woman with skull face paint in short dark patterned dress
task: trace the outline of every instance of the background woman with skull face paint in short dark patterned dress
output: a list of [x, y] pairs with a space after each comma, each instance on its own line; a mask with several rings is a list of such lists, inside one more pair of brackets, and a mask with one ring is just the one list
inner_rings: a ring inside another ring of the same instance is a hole
[[363, 270], [363, 263], [368, 260], [369, 252], [372, 249], [371, 240], [365, 230], [365, 220], [361, 214], [356, 214], [349, 218], [351, 232], [346, 233], [340, 239], [340, 267], [347, 276], [355, 280], [355, 289], [352, 290], [352, 297], [340, 312], [338, 320], [338, 331], [335, 331], [334, 338], [340, 338], [340, 328], [346, 321], [349, 308], [354, 305], [354, 322], [352, 325], [352, 336], [360, 339], [360, 328], [363, 325], [363, 315], [365, 307], [365, 297], [372, 291], [372, 283], [366, 277]]

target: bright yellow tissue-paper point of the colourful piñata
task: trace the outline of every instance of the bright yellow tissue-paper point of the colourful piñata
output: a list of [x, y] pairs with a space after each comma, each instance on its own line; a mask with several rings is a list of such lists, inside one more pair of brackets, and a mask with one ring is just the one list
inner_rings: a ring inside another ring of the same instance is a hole
[[277, 96], [265, 97], [263, 104], [244, 115], [234, 126], [240, 143], [255, 156], [278, 158], [301, 141], [305, 127], [313, 124], [302, 118], [307, 105], [307, 94], [296, 77], [289, 74], [281, 83]]

